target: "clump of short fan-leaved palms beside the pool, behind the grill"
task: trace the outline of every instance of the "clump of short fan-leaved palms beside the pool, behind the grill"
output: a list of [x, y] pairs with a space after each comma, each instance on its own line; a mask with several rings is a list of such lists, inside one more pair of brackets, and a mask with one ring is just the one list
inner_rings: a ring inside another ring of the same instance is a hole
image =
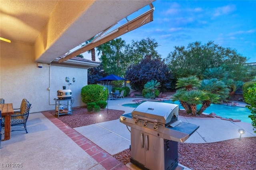
[[[180, 101], [187, 113], [200, 115], [211, 103], [220, 103], [226, 99], [229, 90], [218, 79], [200, 80], [196, 76], [183, 77], [176, 83], [180, 88], [173, 95], [172, 101]], [[201, 107], [199, 107], [201, 105]]]

